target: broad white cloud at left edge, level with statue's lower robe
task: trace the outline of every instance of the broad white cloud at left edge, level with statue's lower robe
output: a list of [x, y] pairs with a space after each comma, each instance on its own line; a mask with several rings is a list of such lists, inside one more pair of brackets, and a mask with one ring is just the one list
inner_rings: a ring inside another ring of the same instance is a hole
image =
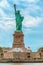
[[9, 30], [15, 28], [15, 21], [14, 20], [2, 20], [0, 21], [0, 28]]

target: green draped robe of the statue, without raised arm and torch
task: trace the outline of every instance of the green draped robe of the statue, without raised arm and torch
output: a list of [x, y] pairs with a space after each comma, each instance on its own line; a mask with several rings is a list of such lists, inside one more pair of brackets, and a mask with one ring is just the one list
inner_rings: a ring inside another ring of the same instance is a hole
[[20, 13], [16, 12], [16, 31], [22, 31], [22, 21], [24, 17], [20, 15]]

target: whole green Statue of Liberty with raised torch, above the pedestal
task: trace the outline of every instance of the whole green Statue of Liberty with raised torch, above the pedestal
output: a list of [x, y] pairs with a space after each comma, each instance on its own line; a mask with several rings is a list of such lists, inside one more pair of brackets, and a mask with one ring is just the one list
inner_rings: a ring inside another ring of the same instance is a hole
[[15, 9], [15, 20], [16, 20], [16, 32], [22, 32], [22, 21], [24, 19], [23, 16], [21, 16], [20, 11], [16, 10], [16, 4], [14, 4]]

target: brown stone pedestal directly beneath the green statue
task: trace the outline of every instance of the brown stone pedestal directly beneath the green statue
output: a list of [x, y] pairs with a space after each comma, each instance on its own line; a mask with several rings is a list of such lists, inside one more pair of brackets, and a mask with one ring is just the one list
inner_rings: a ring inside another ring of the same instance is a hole
[[23, 32], [15, 32], [13, 34], [13, 48], [24, 48], [24, 34]]

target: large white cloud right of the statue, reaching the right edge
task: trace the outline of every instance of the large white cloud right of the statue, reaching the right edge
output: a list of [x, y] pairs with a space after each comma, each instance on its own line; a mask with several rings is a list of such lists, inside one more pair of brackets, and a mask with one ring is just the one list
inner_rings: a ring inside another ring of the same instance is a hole
[[37, 26], [41, 22], [43, 22], [43, 18], [26, 16], [23, 21], [23, 25], [26, 27], [33, 27], [33, 26]]

